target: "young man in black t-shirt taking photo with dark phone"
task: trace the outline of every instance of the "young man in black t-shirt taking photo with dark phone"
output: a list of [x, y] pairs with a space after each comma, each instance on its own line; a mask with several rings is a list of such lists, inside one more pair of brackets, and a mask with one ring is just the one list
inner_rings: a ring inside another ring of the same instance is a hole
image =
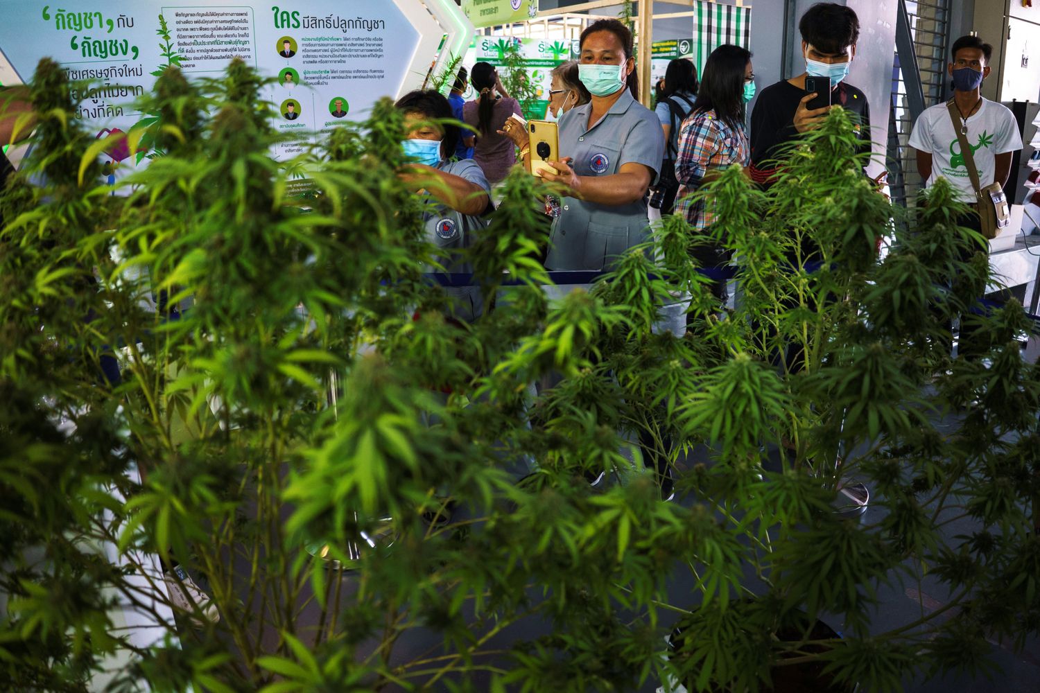
[[[844, 108], [853, 114], [862, 149], [870, 150], [869, 104], [860, 89], [846, 82], [856, 57], [859, 18], [843, 5], [820, 2], [806, 10], [798, 28], [802, 34], [805, 72], [762, 89], [751, 112], [750, 174], [765, 187], [772, 183], [783, 145], [817, 127], [831, 108]], [[806, 94], [806, 77], [830, 78], [831, 106], [808, 107], [816, 95]]]

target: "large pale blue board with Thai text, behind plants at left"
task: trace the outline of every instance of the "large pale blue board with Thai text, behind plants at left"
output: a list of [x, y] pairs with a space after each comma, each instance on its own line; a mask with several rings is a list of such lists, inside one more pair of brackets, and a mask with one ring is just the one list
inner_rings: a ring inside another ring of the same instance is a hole
[[[134, 101], [168, 64], [189, 78], [215, 77], [232, 58], [243, 59], [277, 78], [267, 87], [277, 109], [272, 125], [305, 134], [364, 117], [378, 99], [395, 96], [414, 69], [419, 34], [397, 0], [276, 1], [0, 0], [0, 51], [22, 81], [45, 56], [71, 80], [88, 80], [76, 95], [82, 98], [76, 116], [98, 137], [127, 132], [149, 116]], [[287, 144], [275, 154], [301, 149]], [[110, 154], [129, 156], [125, 146]], [[124, 170], [137, 162], [126, 163]]]

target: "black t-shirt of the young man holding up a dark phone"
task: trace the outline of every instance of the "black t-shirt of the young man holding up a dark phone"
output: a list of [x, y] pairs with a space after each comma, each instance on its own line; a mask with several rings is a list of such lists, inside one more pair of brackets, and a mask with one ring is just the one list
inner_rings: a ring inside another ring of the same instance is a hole
[[[795, 130], [795, 112], [808, 92], [787, 80], [771, 84], [758, 95], [751, 111], [751, 177], [756, 183], [769, 186], [775, 171], [772, 160], [779, 148], [799, 136]], [[859, 138], [864, 152], [870, 150], [870, 106], [866, 96], [852, 84], [841, 82], [832, 94], [832, 100], [858, 116]], [[766, 163], [770, 162], [770, 163]]]

